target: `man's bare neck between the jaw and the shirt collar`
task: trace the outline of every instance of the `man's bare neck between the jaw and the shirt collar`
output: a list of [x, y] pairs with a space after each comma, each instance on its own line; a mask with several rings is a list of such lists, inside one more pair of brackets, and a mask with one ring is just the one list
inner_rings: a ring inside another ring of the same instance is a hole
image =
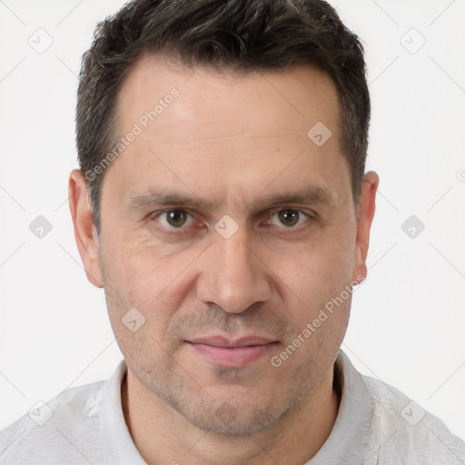
[[122, 384], [124, 419], [136, 448], [149, 465], [302, 464], [311, 460], [328, 439], [339, 404], [331, 367], [307, 401], [272, 429], [233, 436], [196, 428], [147, 392], [129, 369]]

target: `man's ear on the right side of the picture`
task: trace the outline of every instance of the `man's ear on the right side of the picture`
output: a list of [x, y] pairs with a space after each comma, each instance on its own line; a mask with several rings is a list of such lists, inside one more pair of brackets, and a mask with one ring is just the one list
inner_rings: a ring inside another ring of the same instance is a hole
[[[367, 275], [366, 259], [370, 243], [370, 229], [375, 211], [375, 197], [380, 177], [371, 171], [365, 173], [361, 184], [357, 219], [357, 239], [355, 243], [355, 266], [352, 271], [352, 282], [361, 283]], [[363, 277], [361, 279], [361, 276]]]

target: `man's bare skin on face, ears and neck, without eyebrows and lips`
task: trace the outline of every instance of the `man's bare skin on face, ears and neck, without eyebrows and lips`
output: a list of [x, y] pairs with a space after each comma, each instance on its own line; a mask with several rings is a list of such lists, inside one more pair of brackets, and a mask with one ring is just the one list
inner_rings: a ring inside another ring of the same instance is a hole
[[[104, 173], [100, 236], [83, 174], [69, 180], [84, 268], [104, 287], [128, 365], [126, 423], [149, 464], [302, 464], [337, 417], [333, 363], [351, 294], [279, 367], [271, 359], [366, 276], [379, 177], [365, 174], [357, 212], [336, 89], [316, 69], [238, 76], [143, 57], [119, 94], [120, 133], [173, 86], [173, 104]], [[319, 121], [332, 133], [321, 147], [307, 136]], [[265, 202], [315, 185], [330, 202]], [[135, 208], [151, 189], [214, 204]], [[161, 213], [176, 209], [181, 221]], [[226, 214], [238, 227], [229, 239], [214, 229]], [[122, 322], [131, 308], [146, 320], [134, 332]], [[213, 334], [274, 343], [225, 367], [187, 342]]]

